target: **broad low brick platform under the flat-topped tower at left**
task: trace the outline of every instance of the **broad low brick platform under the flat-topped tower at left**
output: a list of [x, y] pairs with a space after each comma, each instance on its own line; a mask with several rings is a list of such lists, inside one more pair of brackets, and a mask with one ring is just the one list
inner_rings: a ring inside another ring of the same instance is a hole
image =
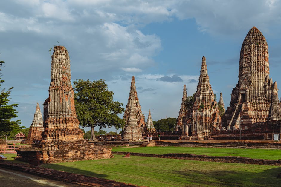
[[111, 153], [112, 148], [105, 146], [94, 146], [88, 143], [81, 144], [79, 142], [63, 141], [62, 143], [57, 143], [56, 147], [58, 149], [56, 150], [42, 149], [40, 147], [42, 147], [42, 145], [35, 144], [33, 145], [33, 148], [23, 148], [17, 150], [17, 157], [15, 159], [24, 162], [29, 162], [30, 160], [39, 160], [40, 163], [44, 164], [74, 162], [79, 160], [95, 160], [113, 157]]

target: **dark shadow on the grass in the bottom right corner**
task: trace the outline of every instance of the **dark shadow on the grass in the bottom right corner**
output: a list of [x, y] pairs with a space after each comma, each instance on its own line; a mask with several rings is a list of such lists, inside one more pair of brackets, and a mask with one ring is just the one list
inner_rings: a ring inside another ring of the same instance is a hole
[[196, 169], [174, 172], [186, 176], [187, 185], [193, 184], [194, 186], [279, 186], [281, 182], [281, 179], [277, 178], [281, 167], [259, 173], [215, 169], [206, 172]]

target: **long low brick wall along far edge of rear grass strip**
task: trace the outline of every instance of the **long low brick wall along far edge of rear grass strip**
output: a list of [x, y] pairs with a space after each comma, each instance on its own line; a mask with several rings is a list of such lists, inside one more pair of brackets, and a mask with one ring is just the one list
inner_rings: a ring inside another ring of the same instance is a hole
[[[248, 141], [248, 142], [247, 142]], [[214, 147], [214, 148], [261, 148], [261, 149], [281, 149], [281, 144], [278, 142], [254, 142], [254, 141], [227, 141], [227, 142], [193, 142], [193, 141], [178, 141], [167, 142], [155, 140], [155, 146], [175, 146], [175, 147]]]

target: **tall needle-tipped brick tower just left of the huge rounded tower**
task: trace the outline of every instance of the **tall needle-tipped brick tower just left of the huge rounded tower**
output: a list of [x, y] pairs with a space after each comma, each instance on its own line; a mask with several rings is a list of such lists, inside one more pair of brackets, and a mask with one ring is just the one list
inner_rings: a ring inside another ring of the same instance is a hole
[[219, 106], [209, 82], [206, 59], [202, 57], [199, 83], [193, 104], [192, 139], [208, 139], [212, 130], [219, 130], [221, 117]]

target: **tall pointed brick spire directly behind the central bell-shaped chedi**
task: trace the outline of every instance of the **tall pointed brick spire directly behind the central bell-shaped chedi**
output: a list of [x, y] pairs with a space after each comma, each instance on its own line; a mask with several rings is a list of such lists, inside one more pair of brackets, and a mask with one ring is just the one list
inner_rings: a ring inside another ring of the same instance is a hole
[[[133, 98], [133, 100], [132, 100]], [[138, 99], [138, 94], [136, 90], [136, 85], [135, 85], [135, 77], [132, 76], [132, 82], [131, 82], [131, 89], [130, 89], [130, 94], [129, 94], [129, 99], [128, 99], [128, 104], [126, 105], [126, 110], [123, 116], [123, 119], [125, 119], [126, 123], [128, 122], [129, 118], [129, 113], [130, 113], [130, 108], [132, 106], [131, 101], [133, 101], [133, 105], [135, 106], [135, 113], [137, 115], [137, 123], [138, 126], [141, 128], [141, 132], [146, 131], [146, 124], [144, 122], [144, 115], [141, 111], [141, 105]]]

